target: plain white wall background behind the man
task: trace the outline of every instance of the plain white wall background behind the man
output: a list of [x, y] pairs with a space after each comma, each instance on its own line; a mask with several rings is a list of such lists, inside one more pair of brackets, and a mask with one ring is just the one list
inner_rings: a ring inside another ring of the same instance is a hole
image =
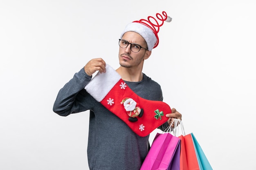
[[182, 113], [214, 170], [255, 170], [255, 7], [254, 0], [1, 0], [0, 169], [88, 170], [89, 112], [58, 116], [56, 95], [92, 58], [117, 68], [126, 24], [166, 11], [173, 21], [160, 28], [144, 73], [162, 85], [164, 102]]

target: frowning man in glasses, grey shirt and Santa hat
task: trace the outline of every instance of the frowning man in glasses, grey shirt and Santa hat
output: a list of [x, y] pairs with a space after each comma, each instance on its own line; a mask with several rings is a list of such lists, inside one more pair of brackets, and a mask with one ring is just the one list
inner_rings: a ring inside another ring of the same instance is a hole
[[[139, 22], [128, 24], [119, 39], [120, 67], [116, 69], [134, 93], [152, 101], [163, 100], [162, 90], [157, 82], [142, 73], [142, 69], [144, 60], [150, 57], [157, 44], [158, 37], [148, 26]], [[148, 153], [149, 135], [137, 135], [85, 90], [96, 71], [101, 74], [106, 72], [106, 62], [102, 58], [90, 60], [75, 73], [59, 91], [53, 110], [61, 116], [90, 110], [87, 150], [90, 170], [139, 170]], [[158, 127], [161, 130], [165, 130], [174, 118], [182, 117], [175, 108], [165, 116], [169, 118]]]

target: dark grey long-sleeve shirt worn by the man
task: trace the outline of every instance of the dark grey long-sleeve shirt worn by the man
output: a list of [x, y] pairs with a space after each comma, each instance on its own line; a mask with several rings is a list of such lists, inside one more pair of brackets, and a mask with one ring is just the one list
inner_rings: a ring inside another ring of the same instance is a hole
[[[84, 87], [92, 79], [82, 68], [59, 91], [53, 111], [61, 116], [90, 110], [88, 163], [90, 170], [139, 170], [148, 153], [148, 138], [139, 137], [119, 117], [97, 102]], [[125, 81], [126, 82], [126, 81]], [[157, 82], [143, 74], [140, 82], [126, 82], [137, 95], [162, 101]], [[165, 130], [168, 124], [159, 127]]]

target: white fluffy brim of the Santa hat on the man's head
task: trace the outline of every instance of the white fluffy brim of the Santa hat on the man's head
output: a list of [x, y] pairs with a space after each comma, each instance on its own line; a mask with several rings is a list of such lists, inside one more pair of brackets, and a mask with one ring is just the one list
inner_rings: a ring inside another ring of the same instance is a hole
[[130, 24], [126, 25], [124, 31], [121, 33], [121, 38], [123, 37], [124, 33], [128, 31], [133, 31], [141, 35], [147, 43], [148, 51], [152, 51], [155, 43], [157, 42], [157, 38], [153, 31], [148, 28], [148, 26], [138, 22], [131, 22]]

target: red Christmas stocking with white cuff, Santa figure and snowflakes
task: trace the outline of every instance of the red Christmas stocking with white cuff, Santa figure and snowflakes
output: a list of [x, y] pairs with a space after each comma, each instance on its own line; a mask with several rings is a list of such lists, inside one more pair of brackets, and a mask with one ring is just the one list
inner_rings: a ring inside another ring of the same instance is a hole
[[171, 113], [168, 104], [139, 97], [108, 64], [106, 73], [97, 73], [85, 89], [141, 137], [164, 124]]

